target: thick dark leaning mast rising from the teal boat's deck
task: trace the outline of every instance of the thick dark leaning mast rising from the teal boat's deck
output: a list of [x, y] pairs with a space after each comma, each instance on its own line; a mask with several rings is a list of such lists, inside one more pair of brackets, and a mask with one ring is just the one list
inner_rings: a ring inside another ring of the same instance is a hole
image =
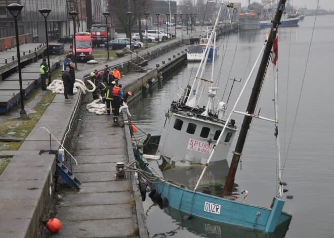
[[[249, 98], [249, 102], [248, 102], [248, 106], [246, 110], [246, 112], [251, 115], [254, 114], [256, 105], [258, 103], [258, 99], [260, 96], [260, 91], [262, 88], [264, 77], [265, 77], [265, 74], [266, 74], [266, 71], [269, 65], [269, 60], [270, 60], [270, 55], [271, 55], [274, 39], [276, 38], [276, 30], [278, 28], [278, 25], [280, 23], [280, 20], [281, 20], [281, 17], [282, 17], [284, 8], [285, 8], [285, 2], [286, 0], [279, 1], [275, 18], [272, 21], [272, 26], [271, 26], [271, 30], [269, 33], [269, 37], [267, 39], [267, 44], [266, 44], [266, 47], [263, 53], [263, 57], [262, 57], [262, 60], [259, 66], [259, 71], [256, 76], [254, 86], [252, 89], [252, 94], [251, 94], [251, 97]], [[243, 118], [239, 137], [237, 140], [237, 144], [235, 146], [235, 150], [233, 152], [230, 169], [228, 171], [225, 186], [224, 186], [224, 196], [229, 196], [232, 194], [235, 173], [238, 168], [238, 164], [239, 164], [240, 157], [242, 154], [242, 149], [243, 149], [246, 137], [247, 137], [249, 126], [252, 123], [252, 119], [253, 117], [250, 117], [250, 116], [245, 116]]]

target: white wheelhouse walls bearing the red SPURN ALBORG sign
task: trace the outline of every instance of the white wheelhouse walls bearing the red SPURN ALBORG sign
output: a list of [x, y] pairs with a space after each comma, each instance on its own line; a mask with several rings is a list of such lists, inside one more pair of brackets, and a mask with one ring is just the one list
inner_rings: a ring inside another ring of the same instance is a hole
[[[168, 161], [170, 164], [186, 163], [186, 158], [190, 161], [185, 165], [200, 163], [201, 160], [205, 162], [223, 126], [223, 123], [171, 113], [163, 129], [158, 151], [160, 155], [170, 160]], [[226, 159], [235, 131], [235, 128], [226, 129], [212, 161]]]

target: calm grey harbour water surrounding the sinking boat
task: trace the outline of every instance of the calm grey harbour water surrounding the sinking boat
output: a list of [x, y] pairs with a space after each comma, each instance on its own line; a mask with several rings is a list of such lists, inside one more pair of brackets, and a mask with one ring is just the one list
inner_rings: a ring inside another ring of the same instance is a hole
[[[334, 55], [333, 22], [334, 15], [308, 16], [299, 22], [299, 27], [278, 30], [279, 109], [282, 109], [279, 112], [279, 135], [284, 168], [282, 180], [287, 183], [284, 188], [288, 189], [283, 197], [283, 210], [293, 215], [285, 237], [333, 237], [334, 233], [334, 207], [331, 205], [334, 191], [334, 80], [331, 70]], [[218, 40], [219, 54], [213, 80], [220, 88], [217, 97], [224, 102], [229, 98], [229, 110], [260, 54], [267, 33], [268, 29], [236, 32]], [[191, 85], [198, 65], [199, 63], [185, 63], [180, 70], [129, 103], [132, 121], [138, 127], [136, 136], [144, 135], [143, 132], [161, 134], [164, 114], [171, 102], [177, 99], [178, 86]], [[211, 79], [211, 67], [212, 65], [207, 67], [206, 79]], [[257, 68], [237, 111], [246, 109], [256, 72]], [[241, 79], [241, 82], [234, 82], [229, 97], [234, 78], [238, 81]], [[272, 85], [273, 67], [270, 64], [256, 111], [271, 119]], [[242, 116], [232, 118], [239, 128]], [[243, 149], [242, 162], [236, 173], [234, 191], [242, 200], [241, 191], [246, 189], [247, 203], [269, 207], [276, 195], [273, 134], [274, 125], [271, 122], [253, 120]], [[213, 170], [206, 177], [207, 184], [211, 185], [204, 184], [204, 192], [216, 196], [222, 194], [222, 184], [236, 140], [235, 137], [227, 160], [219, 165], [222, 169]], [[177, 180], [182, 175], [180, 172], [169, 169], [163, 173]], [[196, 181], [195, 170], [183, 173], [189, 175], [184, 181], [188, 185]], [[293, 196], [293, 199], [286, 199], [288, 195]], [[160, 210], [148, 196], [144, 209], [150, 237], [262, 237], [252, 232], [246, 236], [238, 235], [239, 231], [229, 233], [229, 229], [224, 230], [210, 222], [184, 221], [182, 215], [175, 211]], [[283, 236], [284, 234], [275, 237]]]

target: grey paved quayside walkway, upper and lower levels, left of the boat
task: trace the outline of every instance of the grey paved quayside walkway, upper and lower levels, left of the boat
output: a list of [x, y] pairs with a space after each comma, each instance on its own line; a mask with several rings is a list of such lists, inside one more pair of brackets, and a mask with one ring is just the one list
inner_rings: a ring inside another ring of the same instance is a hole
[[[158, 49], [169, 43], [171, 41], [154, 47]], [[156, 58], [153, 65], [172, 57], [177, 50]], [[128, 60], [130, 56], [110, 62], [110, 65]], [[148, 67], [153, 68], [152, 64]], [[103, 65], [92, 68], [102, 69]], [[76, 77], [82, 78], [91, 71], [82, 70], [76, 73]], [[121, 79], [121, 83], [130, 84], [131, 80], [138, 79], [139, 74], [145, 73], [129, 74]], [[49, 133], [41, 127], [47, 127], [58, 141], [71, 139], [67, 137], [67, 129], [73, 123], [73, 112], [81, 101], [80, 97], [81, 94], [77, 93], [71, 101], [65, 101], [63, 94], [57, 94], [21, 148], [0, 152], [0, 156], [13, 156], [0, 176], [0, 237], [40, 235], [43, 229], [41, 220], [47, 219], [41, 216], [47, 212], [45, 204], [53, 196], [56, 158], [48, 153], [39, 153], [49, 150], [50, 144], [53, 150], [60, 148], [55, 139], [50, 141]], [[91, 95], [88, 95], [84, 105], [90, 101]], [[138, 188], [134, 187], [134, 179], [129, 176], [116, 180], [114, 177], [115, 163], [131, 157], [127, 155], [127, 151], [132, 150], [131, 141], [127, 140], [126, 145], [124, 142], [130, 134], [122, 127], [112, 127], [112, 116], [97, 116], [85, 111], [80, 119], [78, 131], [73, 137], [77, 139], [75, 158], [79, 164], [73, 167], [73, 172], [82, 184], [78, 193], [66, 194], [57, 215], [63, 222], [63, 228], [52, 236], [146, 237], [141, 199]], [[81, 127], [85, 129], [79, 130]]]

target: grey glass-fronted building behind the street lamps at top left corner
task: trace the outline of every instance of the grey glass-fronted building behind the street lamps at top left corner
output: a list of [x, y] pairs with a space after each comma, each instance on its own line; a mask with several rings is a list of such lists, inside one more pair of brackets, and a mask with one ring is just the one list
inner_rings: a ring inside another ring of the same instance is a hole
[[6, 9], [6, 6], [12, 3], [24, 6], [18, 16], [19, 34], [30, 33], [36, 42], [46, 40], [45, 19], [38, 12], [38, 10], [43, 8], [52, 10], [47, 18], [49, 40], [58, 39], [73, 32], [73, 22], [70, 24], [68, 16], [70, 11], [79, 13], [76, 31], [84, 31], [82, 20], [85, 20], [86, 30], [86, 0], [1, 0], [0, 37], [15, 35], [15, 32], [13, 32], [14, 18]]

